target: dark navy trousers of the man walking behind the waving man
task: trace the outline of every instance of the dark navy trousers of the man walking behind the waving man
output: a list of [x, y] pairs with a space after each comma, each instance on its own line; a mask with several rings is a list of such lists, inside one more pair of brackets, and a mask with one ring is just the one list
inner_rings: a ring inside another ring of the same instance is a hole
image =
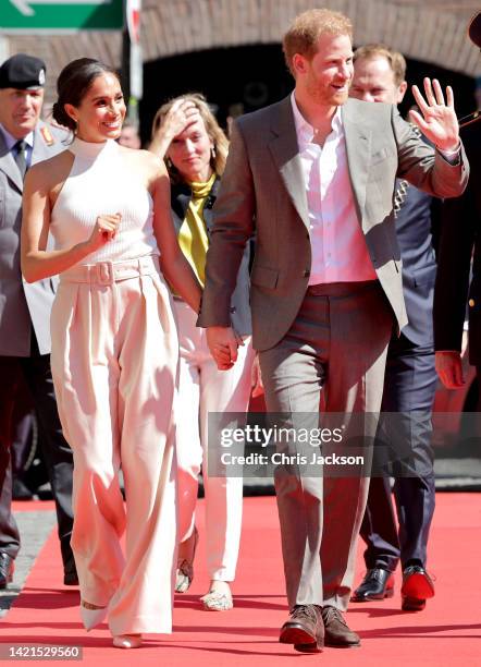
[[409, 476], [395, 477], [394, 482], [399, 531], [396, 529], [388, 477], [371, 478], [360, 530], [367, 544], [365, 561], [368, 569], [382, 567], [394, 571], [399, 558], [403, 568], [408, 563], [425, 566], [428, 536], [435, 505], [433, 453], [430, 445], [435, 388], [432, 347], [416, 345], [403, 335], [393, 338], [387, 351], [382, 411], [402, 412], [405, 415], [416, 411], [417, 417], [412, 421], [396, 420], [396, 426], [398, 429], [400, 426], [402, 430], [397, 434], [399, 444], [403, 447], [408, 445], [414, 468]]

